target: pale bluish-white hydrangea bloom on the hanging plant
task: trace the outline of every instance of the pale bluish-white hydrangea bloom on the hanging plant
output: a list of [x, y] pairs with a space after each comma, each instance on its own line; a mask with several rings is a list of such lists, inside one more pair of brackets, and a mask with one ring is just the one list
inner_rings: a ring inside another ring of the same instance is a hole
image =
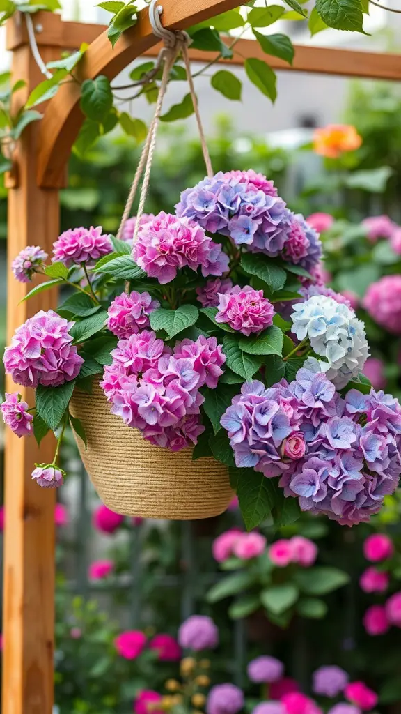
[[309, 338], [313, 351], [328, 361], [319, 362], [322, 371], [335, 386], [344, 387], [362, 371], [369, 356], [365, 325], [351, 308], [325, 295], [296, 303], [293, 310], [298, 340]]

